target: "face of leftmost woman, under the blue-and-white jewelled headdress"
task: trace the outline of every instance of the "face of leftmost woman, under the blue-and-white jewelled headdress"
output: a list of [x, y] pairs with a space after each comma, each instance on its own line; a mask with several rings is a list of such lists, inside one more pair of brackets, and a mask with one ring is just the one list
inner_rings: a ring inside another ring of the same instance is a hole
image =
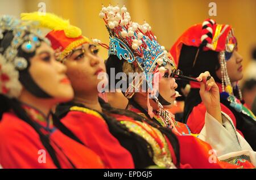
[[55, 60], [53, 49], [42, 42], [36, 54], [30, 59], [29, 72], [35, 83], [58, 102], [73, 98], [73, 89], [65, 75], [67, 68]]

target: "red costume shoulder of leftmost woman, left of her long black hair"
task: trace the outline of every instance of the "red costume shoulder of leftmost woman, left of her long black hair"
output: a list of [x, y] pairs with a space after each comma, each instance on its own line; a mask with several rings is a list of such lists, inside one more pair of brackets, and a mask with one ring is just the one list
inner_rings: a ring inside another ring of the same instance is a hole
[[0, 164], [3, 168], [56, 168], [46, 152], [40, 163], [43, 144], [38, 134], [14, 114], [3, 114], [0, 123]]

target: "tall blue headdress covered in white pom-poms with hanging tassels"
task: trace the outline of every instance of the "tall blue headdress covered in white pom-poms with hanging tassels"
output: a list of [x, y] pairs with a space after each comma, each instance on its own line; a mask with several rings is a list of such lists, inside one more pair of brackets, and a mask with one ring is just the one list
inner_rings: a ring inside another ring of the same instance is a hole
[[[108, 47], [109, 57], [110, 55], [115, 55], [119, 60], [131, 63], [137, 68], [135, 71], [143, 72], [144, 80], [146, 80], [148, 85], [147, 92], [149, 98], [149, 92], [152, 90], [155, 91], [152, 84], [156, 83], [156, 80], [159, 80], [159, 78], [155, 78], [156, 75], [159, 77], [159, 74], [164, 74], [166, 71], [164, 66], [167, 63], [170, 63], [174, 67], [170, 54], [164, 49], [164, 46], [158, 43], [148, 23], [145, 22], [141, 25], [131, 21], [131, 16], [125, 6], [122, 8], [119, 8], [119, 6], [113, 7], [112, 5], [108, 7], [102, 6], [100, 18], [104, 20], [110, 36]], [[117, 60], [108, 59], [108, 61]], [[133, 89], [139, 89], [142, 83], [143, 80], [138, 80], [136, 76], [133, 82], [129, 84], [125, 96], [127, 98], [133, 97]], [[158, 91], [158, 89], [156, 90]], [[154, 113], [152, 113], [152, 107], [149, 104], [148, 98], [148, 114], [152, 118]], [[171, 103], [164, 100], [159, 93], [158, 97], [153, 95], [151, 98], [158, 104], [159, 115], [163, 117], [166, 126], [171, 126], [170, 116], [162, 106], [162, 104], [170, 105]]]

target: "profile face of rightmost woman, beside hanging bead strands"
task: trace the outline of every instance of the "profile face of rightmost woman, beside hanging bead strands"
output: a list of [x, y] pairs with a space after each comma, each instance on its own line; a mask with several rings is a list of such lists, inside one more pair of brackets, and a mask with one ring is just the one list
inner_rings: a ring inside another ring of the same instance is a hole
[[[230, 59], [226, 61], [226, 68], [231, 82], [237, 82], [243, 78], [242, 61], [243, 57], [237, 52], [237, 49], [234, 50]], [[221, 68], [216, 71], [216, 74], [221, 79]]]

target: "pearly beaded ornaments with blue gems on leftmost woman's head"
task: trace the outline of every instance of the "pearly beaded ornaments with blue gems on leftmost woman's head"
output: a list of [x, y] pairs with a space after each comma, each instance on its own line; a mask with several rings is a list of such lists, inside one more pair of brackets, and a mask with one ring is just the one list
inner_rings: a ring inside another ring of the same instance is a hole
[[[40, 46], [40, 40], [49, 41], [41, 36], [39, 29], [34, 28], [35, 24], [22, 22], [13, 16], [0, 16], [0, 94], [9, 98], [20, 95], [22, 84], [19, 82], [19, 71], [28, 67], [27, 59], [18, 57], [18, 48], [26, 53], [35, 52]], [[5, 33], [13, 33], [13, 40], [8, 48], [2, 47]]]

